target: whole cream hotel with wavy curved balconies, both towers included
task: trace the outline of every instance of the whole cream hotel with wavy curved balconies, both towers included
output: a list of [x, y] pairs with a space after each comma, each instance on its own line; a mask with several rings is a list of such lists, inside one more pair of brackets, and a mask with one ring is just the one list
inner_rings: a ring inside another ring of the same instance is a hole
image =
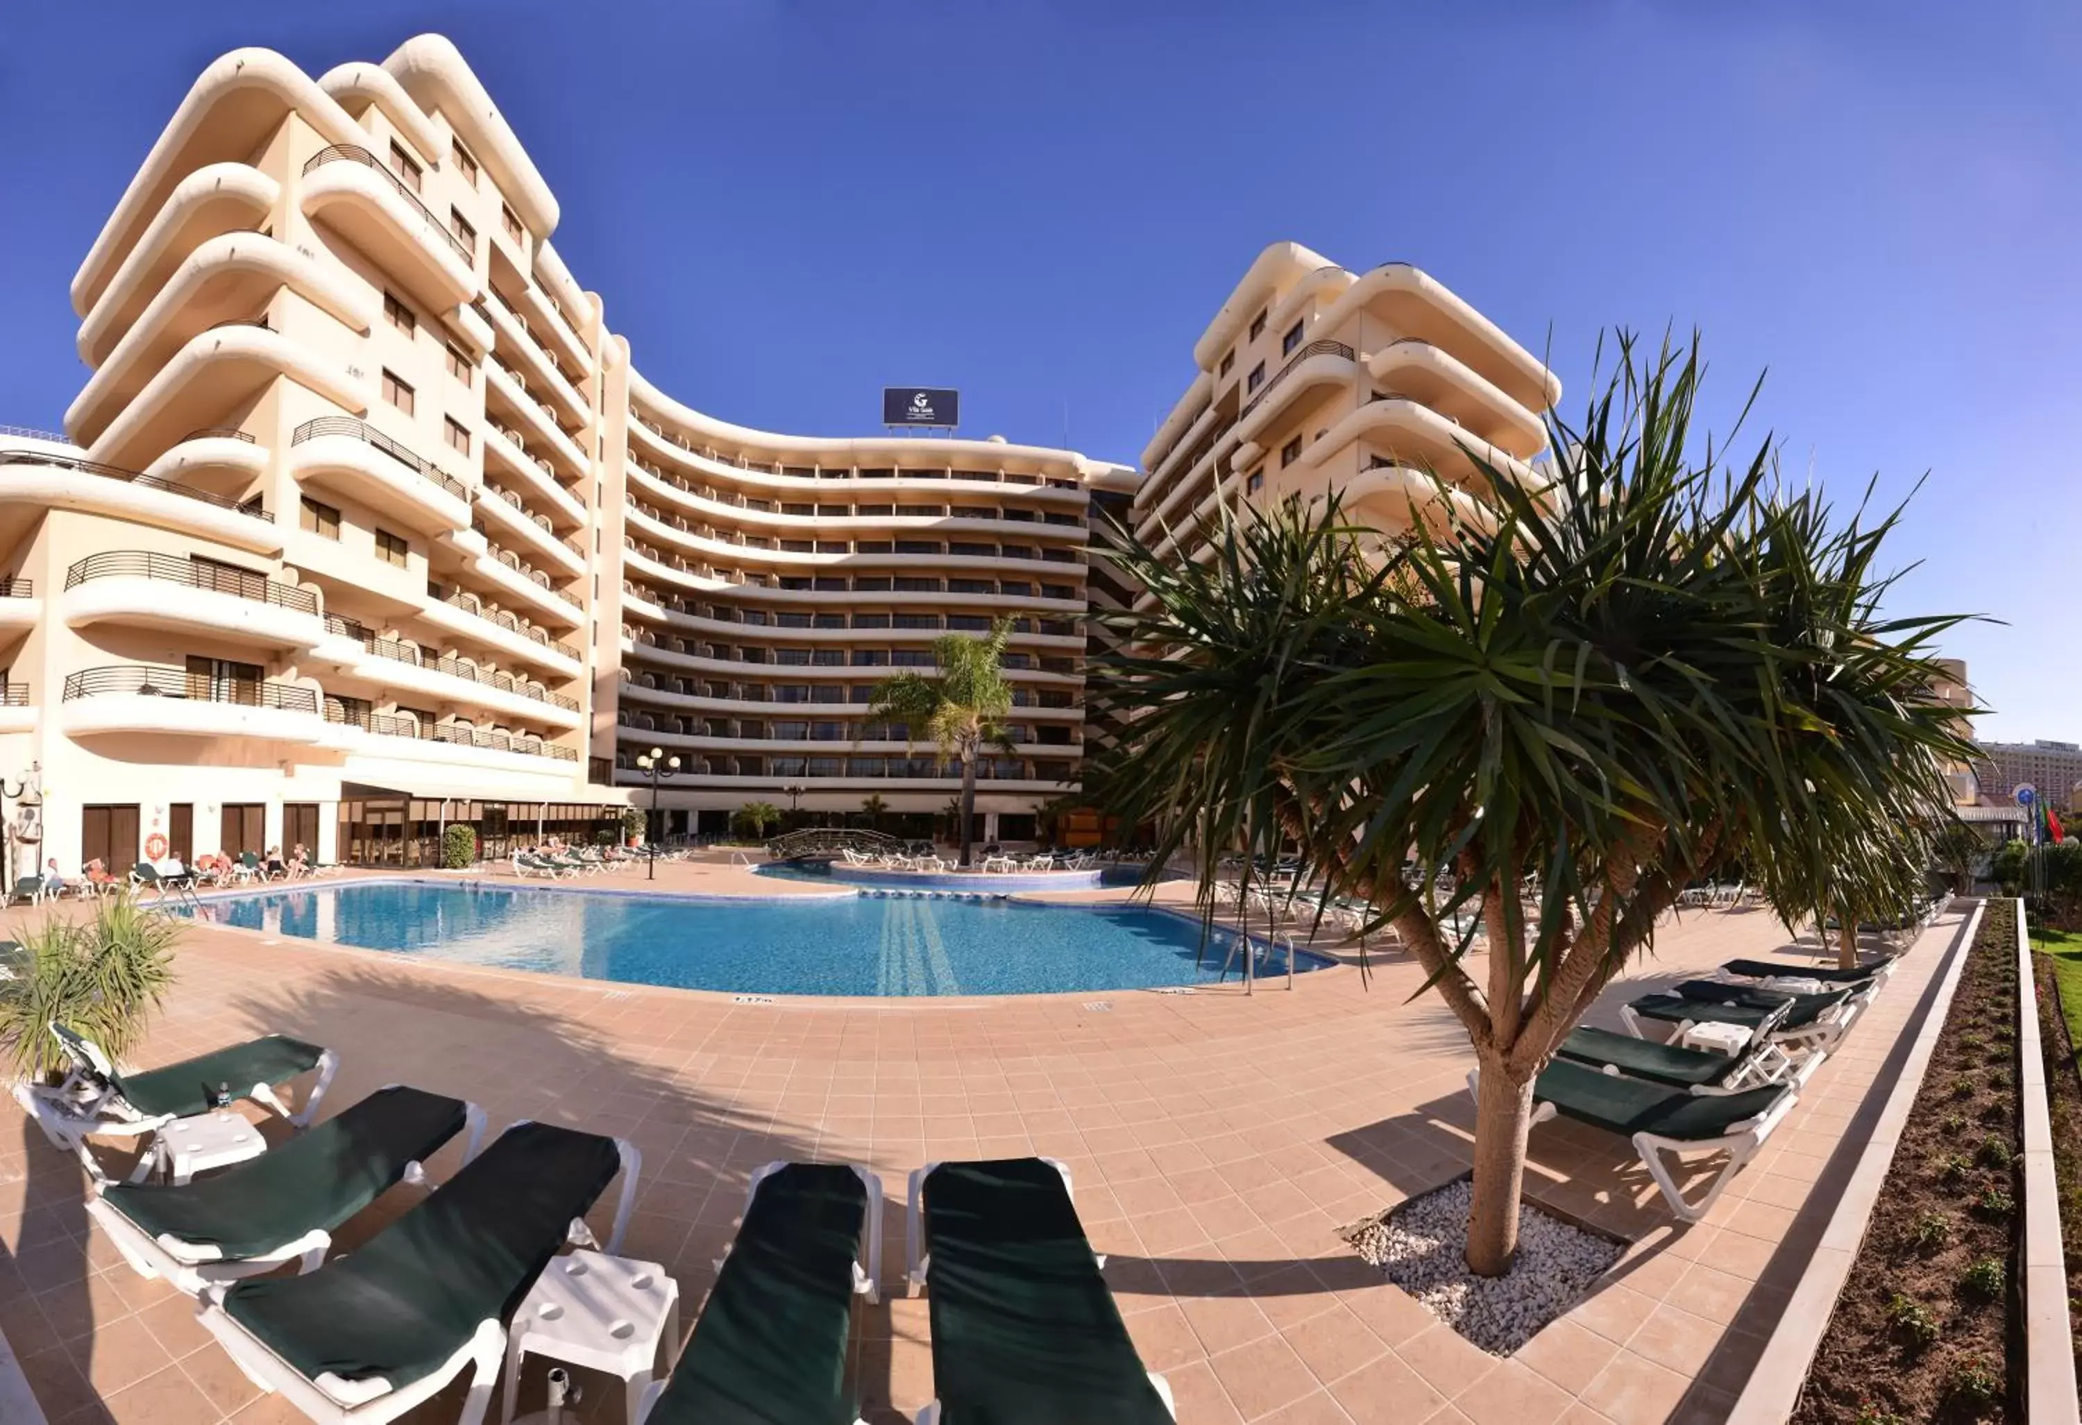
[[1412, 268], [1280, 245], [1147, 483], [995, 437], [752, 431], [643, 379], [558, 216], [437, 35], [204, 71], [73, 279], [65, 439], [0, 435], [0, 772], [40, 784], [37, 861], [421, 863], [446, 822], [496, 855], [648, 805], [650, 747], [681, 759], [668, 830], [752, 799], [937, 813], [958, 768], [868, 693], [997, 618], [1014, 751], [979, 830], [1022, 838], [1078, 778], [1085, 614], [1133, 597], [1089, 564], [1099, 508], [1185, 537], [1214, 499], [1347, 481], [1389, 522], [1397, 462], [1530, 458], [1553, 399]]

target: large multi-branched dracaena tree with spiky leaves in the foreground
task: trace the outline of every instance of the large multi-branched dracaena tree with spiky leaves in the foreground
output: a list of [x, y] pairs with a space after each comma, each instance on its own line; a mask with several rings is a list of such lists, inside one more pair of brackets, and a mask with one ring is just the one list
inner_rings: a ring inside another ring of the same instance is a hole
[[[1965, 755], [1930, 697], [1955, 618], [1895, 618], [1899, 510], [1788, 491], [1772, 443], [1695, 454], [1697, 341], [1618, 362], [1541, 487], [1474, 458], [1393, 541], [1337, 499], [1224, 520], [1203, 564], [1114, 530], [1153, 605], [1114, 616], [1089, 701], [1122, 736], [1087, 793], [1199, 849], [1299, 847], [1366, 897], [1480, 1065], [1468, 1265], [1509, 1269], [1532, 1084], [1686, 882], [1734, 865], [1786, 924], [1897, 913], [1913, 828]], [[1745, 408], [1747, 410], [1747, 408]], [[1868, 491], [1870, 493], [1870, 491]]]

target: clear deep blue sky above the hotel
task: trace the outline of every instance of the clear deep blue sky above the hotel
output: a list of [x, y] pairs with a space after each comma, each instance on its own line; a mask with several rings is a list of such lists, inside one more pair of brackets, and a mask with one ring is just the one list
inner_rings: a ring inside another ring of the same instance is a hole
[[[1262, 23], [1278, 15], [1276, 23]], [[1251, 256], [1434, 273], [1584, 389], [1701, 327], [1801, 478], [1899, 497], [1897, 610], [1997, 736], [2082, 739], [2072, 4], [21, 4], [0, 19], [0, 420], [79, 389], [67, 283], [189, 81], [446, 31], [639, 368], [727, 420], [1133, 462]], [[1761, 426], [1759, 426], [1761, 431]]]

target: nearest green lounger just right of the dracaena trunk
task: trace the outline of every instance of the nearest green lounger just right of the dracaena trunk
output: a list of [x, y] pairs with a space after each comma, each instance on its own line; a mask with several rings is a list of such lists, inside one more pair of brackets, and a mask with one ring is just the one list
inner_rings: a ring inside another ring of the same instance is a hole
[[[1468, 1076], [1468, 1092], [1476, 1076]], [[1618, 1073], [1601, 1073], [1589, 1065], [1555, 1059], [1532, 1082], [1532, 1121], [1568, 1117], [1576, 1123], [1603, 1128], [1632, 1140], [1641, 1165], [1649, 1169], [1670, 1211], [1684, 1221], [1699, 1221], [1720, 1198], [1728, 1180], [1755, 1157], [1772, 1136], [1799, 1094], [1788, 1084], [1745, 1088], [1736, 1094], [1691, 1094]], [[1724, 1150], [1728, 1161], [1707, 1184], [1699, 1200], [1686, 1200], [1664, 1163], [1666, 1152]]]

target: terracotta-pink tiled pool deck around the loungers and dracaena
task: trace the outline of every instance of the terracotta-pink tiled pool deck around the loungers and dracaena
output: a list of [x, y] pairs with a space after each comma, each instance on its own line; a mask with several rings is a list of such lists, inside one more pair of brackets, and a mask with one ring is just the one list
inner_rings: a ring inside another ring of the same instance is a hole
[[[660, 888], [791, 892], [725, 865], [666, 867]], [[885, 1304], [866, 1315], [858, 1363], [877, 1425], [908, 1421], [931, 1398], [926, 1302], [897, 1288], [906, 1173], [926, 1159], [1024, 1152], [1074, 1169], [1078, 1213], [1183, 1425], [1718, 1421], [1828, 1221], [1853, 1157], [1845, 1146], [1876, 1113], [1868, 1092], [1922, 1017], [1957, 924], [1953, 913], [1924, 932], [1699, 1225], [1664, 1211], [1622, 1140], [1537, 1128], [1528, 1190], [1634, 1246], [1507, 1361], [1439, 1325], [1339, 1238], [1468, 1161], [1472, 1053], [1437, 996], [1407, 1003], [1422, 976], [1393, 955], [1376, 955], [1368, 988], [1357, 971], [1330, 969], [1249, 999], [731, 1005], [198, 926], [137, 1059], [281, 1030], [341, 1053], [335, 1109], [410, 1082], [483, 1103], [493, 1125], [533, 1117], [625, 1134], [643, 1150], [625, 1252], [679, 1277], [687, 1325], [752, 1169], [868, 1163], [889, 1194]], [[1780, 951], [1805, 957], [1763, 911], [1689, 913], [1593, 1021], [1616, 1028], [1616, 1007], [1653, 984]], [[412, 1198], [389, 1194], [348, 1244]], [[15, 1113], [0, 1134], [0, 1331], [52, 1425], [302, 1419], [239, 1375], [187, 1300], [131, 1273], [81, 1202], [77, 1165]], [[620, 1419], [620, 1383], [581, 1379], [585, 1415]], [[454, 1421], [458, 1404], [452, 1390], [408, 1419]], [[537, 1363], [520, 1408], [539, 1406]]]

